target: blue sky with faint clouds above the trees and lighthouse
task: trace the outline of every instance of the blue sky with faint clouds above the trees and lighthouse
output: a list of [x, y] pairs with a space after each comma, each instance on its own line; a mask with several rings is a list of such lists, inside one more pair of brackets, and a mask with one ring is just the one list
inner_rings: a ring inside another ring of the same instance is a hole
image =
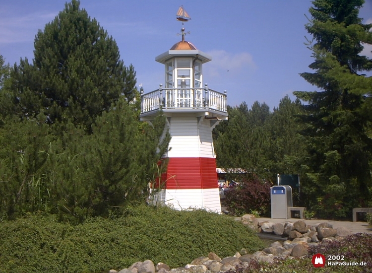
[[[64, 9], [65, 0], [0, 0], [0, 55], [11, 66], [33, 59], [35, 35]], [[80, 0], [91, 18], [117, 42], [124, 64], [136, 70], [145, 93], [164, 84], [164, 65], [155, 57], [181, 40], [180, 5], [191, 17], [186, 41], [209, 54], [203, 82], [227, 91], [228, 104], [255, 101], [270, 110], [293, 91], [319, 91], [299, 73], [311, 71], [305, 30], [310, 0]], [[372, 23], [372, 0], [360, 10]], [[364, 55], [372, 58], [372, 47]]]

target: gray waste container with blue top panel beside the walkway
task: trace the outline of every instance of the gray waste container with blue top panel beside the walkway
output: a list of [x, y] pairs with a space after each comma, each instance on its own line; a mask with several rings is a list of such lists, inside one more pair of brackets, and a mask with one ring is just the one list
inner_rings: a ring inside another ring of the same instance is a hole
[[271, 218], [288, 219], [288, 207], [292, 206], [292, 188], [288, 185], [270, 188]]

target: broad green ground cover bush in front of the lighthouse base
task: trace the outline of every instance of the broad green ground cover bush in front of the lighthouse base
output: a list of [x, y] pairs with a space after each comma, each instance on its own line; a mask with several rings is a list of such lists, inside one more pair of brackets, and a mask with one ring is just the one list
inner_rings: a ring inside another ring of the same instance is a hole
[[1, 273], [95, 273], [147, 259], [175, 268], [210, 251], [227, 257], [264, 247], [253, 231], [226, 215], [144, 205], [78, 225], [61, 223], [56, 215], [29, 214], [0, 222], [0, 234]]

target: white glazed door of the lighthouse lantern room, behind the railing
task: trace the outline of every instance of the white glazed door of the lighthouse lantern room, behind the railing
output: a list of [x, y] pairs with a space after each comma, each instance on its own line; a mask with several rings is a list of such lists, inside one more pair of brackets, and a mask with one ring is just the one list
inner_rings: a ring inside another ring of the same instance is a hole
[[[193, 107], [191, 84], [191, 59], [180, 58], [176, 62], [176, 107]], [[186, 88], [186, 89], [185, 89]]]

